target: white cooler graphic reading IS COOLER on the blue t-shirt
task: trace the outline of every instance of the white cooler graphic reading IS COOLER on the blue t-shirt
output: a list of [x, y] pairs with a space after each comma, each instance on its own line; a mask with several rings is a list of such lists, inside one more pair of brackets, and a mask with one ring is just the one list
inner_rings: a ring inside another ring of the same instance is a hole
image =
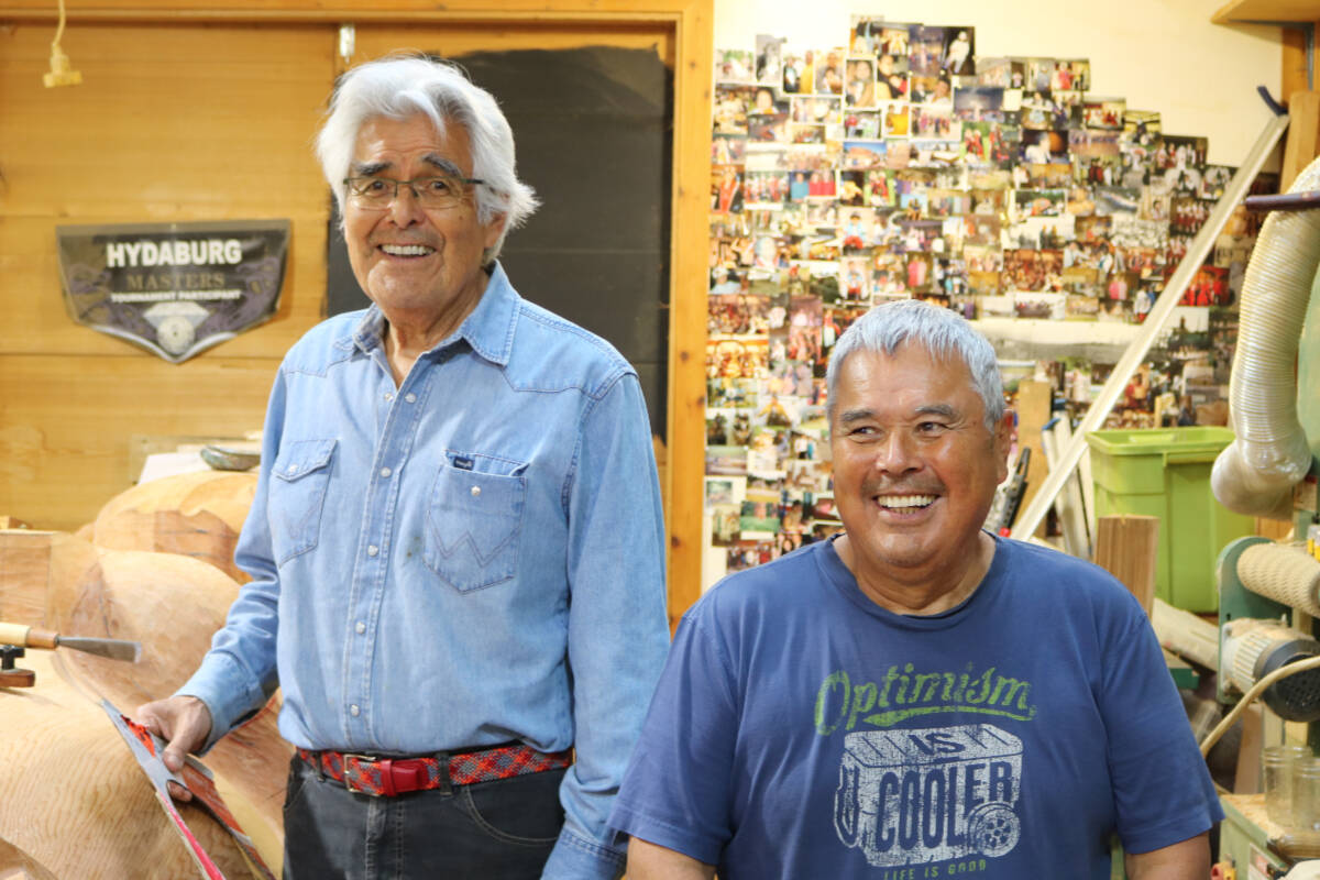
[[990, 724], [849, 734], [834, 830], [875, 867], [1002, 856], [1020, 789], [1022, 740]]

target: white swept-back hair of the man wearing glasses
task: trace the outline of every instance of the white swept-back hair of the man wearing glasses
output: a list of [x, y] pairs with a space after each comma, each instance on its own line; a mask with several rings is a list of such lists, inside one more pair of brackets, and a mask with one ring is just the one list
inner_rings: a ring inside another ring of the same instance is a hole
[[499, 256], [508, 231], [520, 226], [539, 202], [531, 186], [517, 179], [513, 162], [513, 131], [495, 98], [474, 86], [449, 62], [422, 55], [392, 55], [354, 67], [335, 84], [330, 112], [317, 135], [317, 158], [343, 215], [346, 187], [358, 131], [374, 116], [408, 119], [425, 113], [444, 132], [449, 121], [467, 131], [477, 186], [477, 219], [490, 223], [506, 216], [504, 230], [483, 263]]

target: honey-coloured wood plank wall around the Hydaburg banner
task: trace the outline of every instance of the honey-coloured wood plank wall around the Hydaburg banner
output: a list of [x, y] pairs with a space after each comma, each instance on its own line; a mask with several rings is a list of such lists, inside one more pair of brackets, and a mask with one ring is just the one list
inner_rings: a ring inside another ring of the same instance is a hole
[[[331, 25], [79, 24], [83, 84], [45, 88], [53, 29], [0, 30], [0, 512], [73, 530], [128, 488], [132, 443], [259, 429], [319, 317], [326, 189], [309, 149]], [[75, 325], [55, 227], [288, 218], [275, 319], [183, 364]]]

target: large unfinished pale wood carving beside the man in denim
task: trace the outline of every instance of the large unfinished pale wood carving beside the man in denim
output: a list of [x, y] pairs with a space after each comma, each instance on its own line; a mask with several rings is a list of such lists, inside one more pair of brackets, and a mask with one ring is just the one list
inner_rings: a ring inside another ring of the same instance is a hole
[[[238, 595], [234, 541], [255, 484], [249, 474], [202, 472], [135, 487], [81, 530], [92, 541], [0, 530], [0, 620], [141, 643], [136, 664], [29, 648], [16, 665], [36, 673], [34, 686], [0, 687], [4, 880], [198, 876], [99, 702], [132, 714], [197, 668]], [[203, 759], [276, 872], [290, 756], [277, 710], [279, 694]], [[257, 876], [201, 807], [178, 807], [226, 877]]]

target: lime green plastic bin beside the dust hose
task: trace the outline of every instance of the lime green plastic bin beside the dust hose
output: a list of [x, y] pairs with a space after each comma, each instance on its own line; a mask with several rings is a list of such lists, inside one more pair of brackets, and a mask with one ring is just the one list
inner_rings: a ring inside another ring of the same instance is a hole
[[1096, 516], [1159, 517], [1155, 595], [1175, 608], [1216, 611], [1214, 559], [1224, 545], [1251, 534], [1255, 521], [1233, 513], [1210, 492], [1210, 468], [1233, 442], [1228, 427], [1092, 431]]

